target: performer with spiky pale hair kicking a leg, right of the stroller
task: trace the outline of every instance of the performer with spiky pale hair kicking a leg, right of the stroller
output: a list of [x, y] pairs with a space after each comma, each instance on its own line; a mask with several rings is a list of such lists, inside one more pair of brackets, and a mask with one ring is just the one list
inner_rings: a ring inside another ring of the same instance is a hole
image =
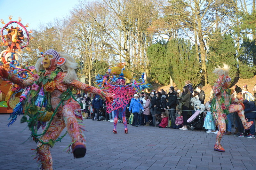
[[253, 121], [247, 122], [244, 117], [244, 104], [236, 98], [231, 97], [231, 78], [228, 76], [229, 66], [223, 64], [223, 67], [218, 66], [213, 73], [219, 76], [219, 79], [215, 82], [213, 87], [213, 98], [211, 112], [219, 126], [219, 132], [216, 136], [216, 142], [214, 145], [215, 151], [224, 152], [224, 148], [220, 144], [222, 135], [226, 131], [226, 119], [227, 114], [237, 112], [239, 118], [242, 120], [244, 129], [247, 130], [254, 125]]

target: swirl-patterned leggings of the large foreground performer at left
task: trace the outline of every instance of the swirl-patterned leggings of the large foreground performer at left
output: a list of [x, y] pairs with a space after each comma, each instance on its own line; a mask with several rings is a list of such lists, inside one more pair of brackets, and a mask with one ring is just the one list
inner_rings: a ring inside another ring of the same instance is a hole
[[[41, 140], [48, 142], [52, 139], [54, 141], [59, 137], [62, 130], [67, 127], [67, 131], [72, 142], [79, 141], [85, 143], [84, 135], [81, 131], [81, 125], [78, 124], [75, 116], [75, 110], [77, 108], [80, 108], [80, 105], [77, 102], [65, 104], [61, 112], [56, 113], [50, 127], [45, 135], [41, 137]], [[49, 149], [50, 146], [48, 144], [42, 144], [40, 142], [37, 144], [38, 161], [41, 161], [42, 169], [52, 169], [52, 155]]]

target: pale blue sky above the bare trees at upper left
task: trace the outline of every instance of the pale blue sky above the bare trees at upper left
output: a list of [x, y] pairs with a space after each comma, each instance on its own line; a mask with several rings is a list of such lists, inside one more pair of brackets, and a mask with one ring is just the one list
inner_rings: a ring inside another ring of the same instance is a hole
[[[0, 19], [7, 24], [9, 15], [12, 15], [13, 21], [21, 17], [23, 25], [29, 24], [28, 30], [37, 30], [40, 24], [69, 15], [78, 3], [79, 0], [0, 0]], [[0, 27], [3, 26], [0, 23]]]

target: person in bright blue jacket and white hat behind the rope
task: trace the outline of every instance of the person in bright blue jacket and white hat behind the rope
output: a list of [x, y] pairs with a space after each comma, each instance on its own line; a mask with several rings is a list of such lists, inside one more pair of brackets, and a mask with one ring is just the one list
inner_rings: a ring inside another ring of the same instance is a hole
[[138, 113], [140, 109], [144, 112], [144, 109], [140, 104], [139, 96], [134, 94], [129, 107], [129, 111], [133, 114], [132, 126], [138, 127]]

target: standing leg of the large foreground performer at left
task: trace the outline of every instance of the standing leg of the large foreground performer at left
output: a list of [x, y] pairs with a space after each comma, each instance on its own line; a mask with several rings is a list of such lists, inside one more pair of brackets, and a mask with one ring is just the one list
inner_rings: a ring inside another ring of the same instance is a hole
[[[58, 113], [57, 113], [58, 114]], [[53, 141], [56, 140], [62, 130], [65, 128], [65, 122], [61, 114], [55, 115], [53, 118], [50, 127], [47, 129], [47, 132], [40, 139], [44, 142], [48, 142], [50, 139]], [[37, 162], [42, 163], [42, 169], [51, 170], [52, 169], [52, 155], [50, 152], [50, 146], [48, 144], [42, 144], [41, 142], [37, 143]]]

